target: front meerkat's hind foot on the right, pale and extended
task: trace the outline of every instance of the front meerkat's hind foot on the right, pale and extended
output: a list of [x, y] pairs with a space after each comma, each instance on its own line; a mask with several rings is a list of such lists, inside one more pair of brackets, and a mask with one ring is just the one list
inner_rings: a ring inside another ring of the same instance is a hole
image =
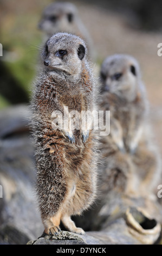
[[70, 232], [74, 232], [77, 234], [85, 234], [85, 231], [82, 228], [77, 228], [74, 221], [70, 218], [70, 216], [62, 216], [61, 221], [65, 228], [67, 228]]

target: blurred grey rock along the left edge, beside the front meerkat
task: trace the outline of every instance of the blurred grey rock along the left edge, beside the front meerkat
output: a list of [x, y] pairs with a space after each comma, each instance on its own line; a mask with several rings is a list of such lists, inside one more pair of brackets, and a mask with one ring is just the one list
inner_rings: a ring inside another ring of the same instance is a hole
[[0, 113], [0, 241], [24, 244], [43, 230], [35, 198], [34, 148], [27, 106]]

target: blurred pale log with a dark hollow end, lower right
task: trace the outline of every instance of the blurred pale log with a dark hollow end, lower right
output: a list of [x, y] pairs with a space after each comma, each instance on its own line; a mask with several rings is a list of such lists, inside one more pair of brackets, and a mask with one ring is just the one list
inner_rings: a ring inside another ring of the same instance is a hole
[[84, 230], [98, 230], [99, 237], [106, 232], [107, 241], [114, 237], [115, 244], [154, 244], [161, 236], [162, 207], [149, 195], [131, 197], [112, 191], [73, 219]]

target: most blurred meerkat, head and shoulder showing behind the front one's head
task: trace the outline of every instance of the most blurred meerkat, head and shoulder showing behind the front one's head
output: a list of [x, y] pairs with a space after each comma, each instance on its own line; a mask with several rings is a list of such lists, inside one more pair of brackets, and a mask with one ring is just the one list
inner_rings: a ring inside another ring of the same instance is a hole
[[67, 32], [80, 36], [87, 42], [90, 57], [94, 57], [92, 39], [83, 25], [74, 4], [68, 2], [49, 4], [43, 10], [38, 28], [45, 33], [45, 40], [58, 32]]

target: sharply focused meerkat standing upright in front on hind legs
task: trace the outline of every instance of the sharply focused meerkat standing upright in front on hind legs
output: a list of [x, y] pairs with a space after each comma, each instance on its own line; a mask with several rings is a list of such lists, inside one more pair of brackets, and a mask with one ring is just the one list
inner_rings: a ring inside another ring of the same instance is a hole
[[86, 54], [79, 36], [53, 35], [44, 45], [44, 67], [31, 100], [36, 191], [47, 234], [57, 233], [60, 221], [67, 230], [84, 234], [70, 216], [81, 214], [95, 199], [98, 154], [94, 130], [88, 125], [73, 130], [70, 120], [62, 129], [52, 126], [54, 111], [66, 115], [65, 107], [78, 113], [95, 109], [95, 79]]

